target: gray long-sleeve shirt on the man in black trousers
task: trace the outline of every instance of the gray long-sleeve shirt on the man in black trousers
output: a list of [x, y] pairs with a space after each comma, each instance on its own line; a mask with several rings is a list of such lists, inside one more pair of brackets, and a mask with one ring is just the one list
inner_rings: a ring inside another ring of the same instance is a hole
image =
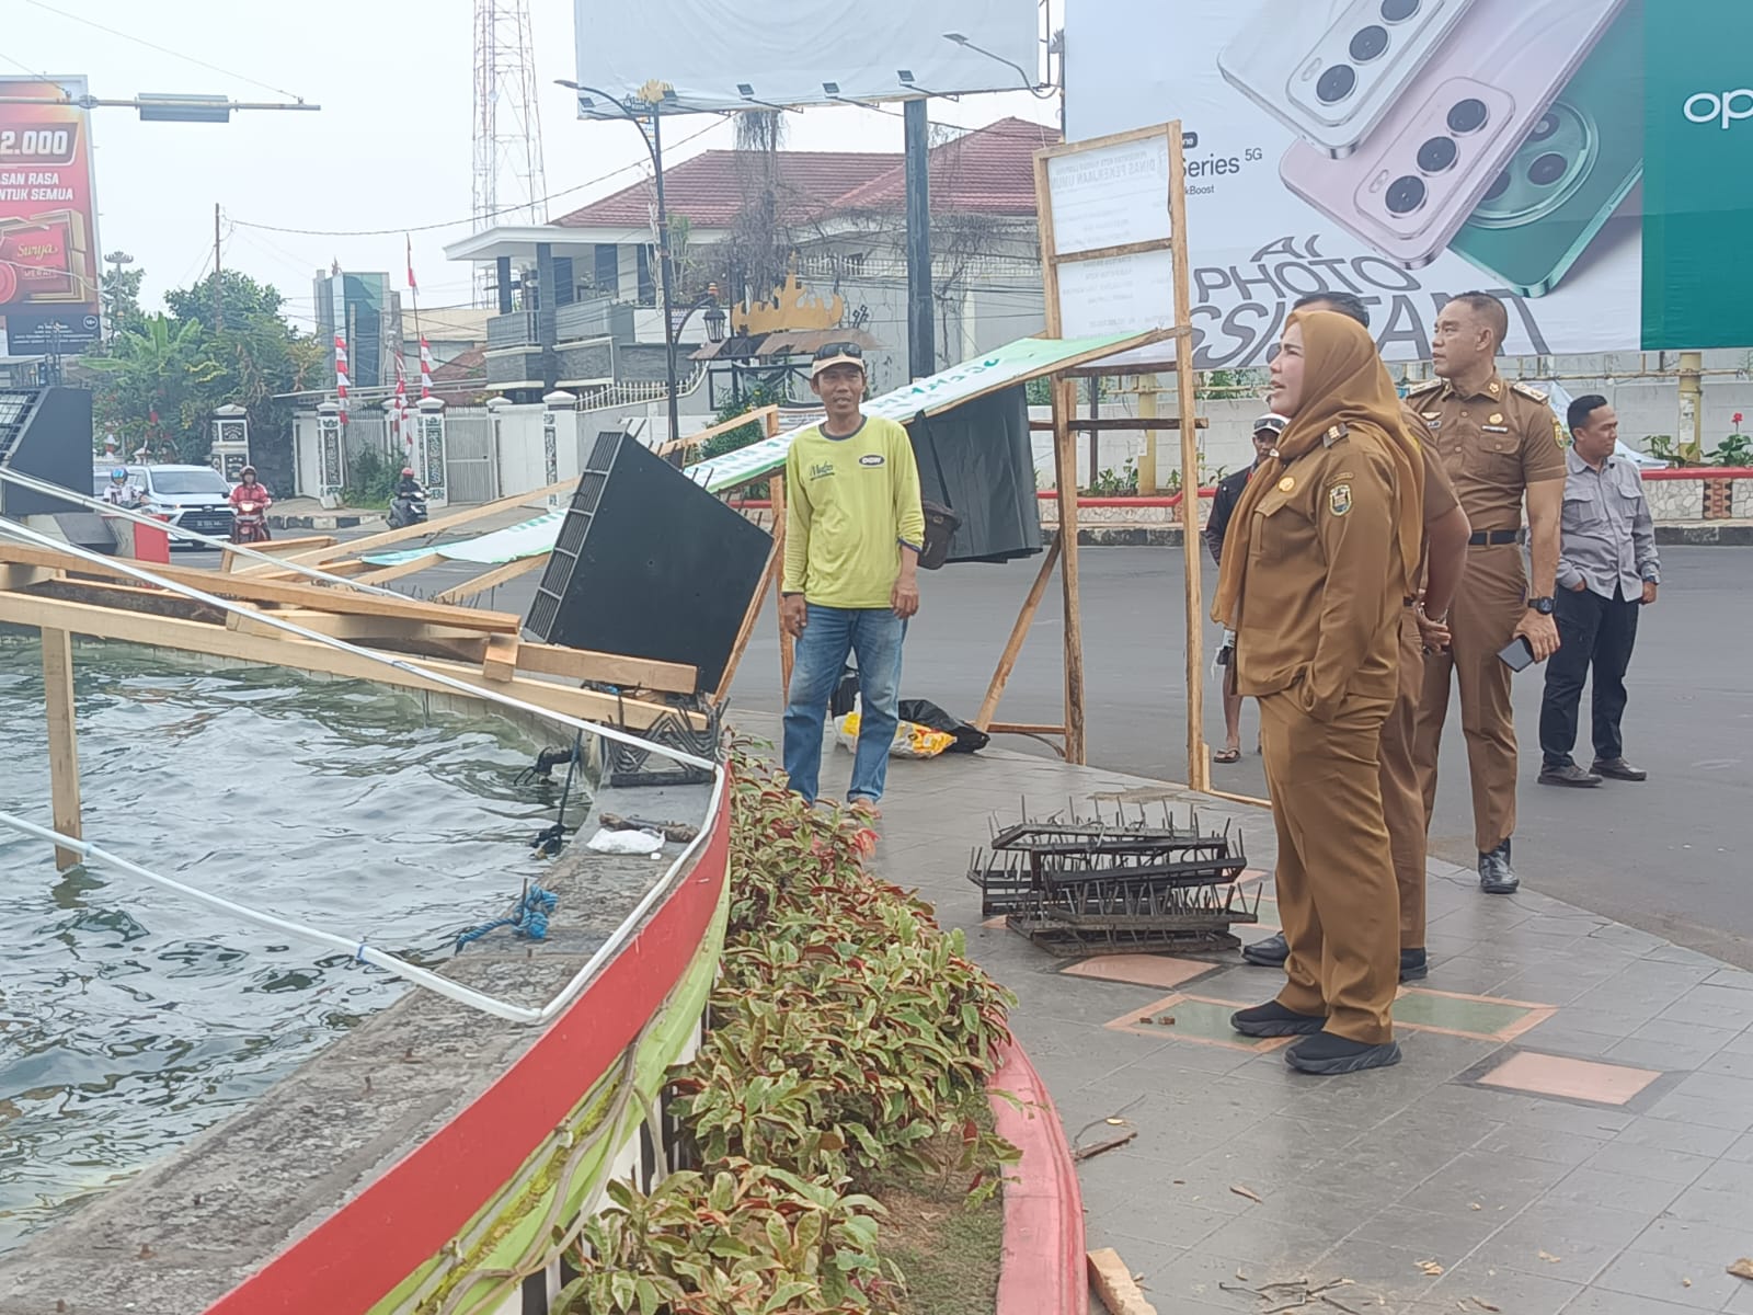
[[1595, 470], [1574, 447], [1564, 454], [1564, 465], [1558, 587], [1585, 584], [1602, 598], [1620, 591], [1627, 601], [1639, 601], [1644, 580], [1662, 582], [1643, 477], [1616, 456]]

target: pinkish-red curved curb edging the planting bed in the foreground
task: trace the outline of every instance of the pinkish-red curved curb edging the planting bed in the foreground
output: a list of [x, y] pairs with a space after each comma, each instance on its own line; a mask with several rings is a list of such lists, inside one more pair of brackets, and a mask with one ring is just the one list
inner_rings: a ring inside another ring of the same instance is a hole
[[1089, 1315], [1083, 1192], [1054, 1098], [1015, 1040], [987, 1089], [997, 1134], [1022, 1152], [1004, 1184], [997, 1315]]

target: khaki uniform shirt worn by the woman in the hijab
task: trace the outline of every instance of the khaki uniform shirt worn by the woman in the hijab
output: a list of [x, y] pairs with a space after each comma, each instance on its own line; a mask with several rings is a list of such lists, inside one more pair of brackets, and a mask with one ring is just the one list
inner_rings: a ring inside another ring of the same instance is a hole
[[[1399, 489], [1385, 438], [1334, 426], [1266, 491], [1246, 544], [1236, 617], [1236, 691], [1299, 687], [1302, 710], [1329, 721], [1348, 694], [1392, 700], [1399, 689], [1401, 607], [1409, 587], [1395, 563]], [[1245, 535], [1245, 538], [1243, 538]]]

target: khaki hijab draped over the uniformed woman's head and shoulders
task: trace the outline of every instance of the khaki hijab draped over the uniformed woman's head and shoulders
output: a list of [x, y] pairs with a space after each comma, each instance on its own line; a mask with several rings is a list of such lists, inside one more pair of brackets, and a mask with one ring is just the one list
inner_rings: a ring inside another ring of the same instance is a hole
[[[1348, 316], [1332, 310], [1297, 310], [1288, 324], [1302, 326], [1302, 405], [1278, 440], [1278, 449], [1253, 472], [1241, 503], [1231, 517], [1236, 535], [1248, 535], [1253, 512], [1267, 489], [1297, 458], [1311, 452], [1334, 424], [1380, 433], [1387, 440], [1399, 484], [1399, 522], [1395, 542], [1406, 580], [1418, 579], [1423, 547], [1423, 451], [1406, 433], [1401, 400], [1394, 391], [1369, 331]], [[1238, 544], [1238, 549], [1243, 545]], [[1248, 570], [1246, 551], [1224, 554], [1211, 619], [1234, 629], [1239, 617], [1241, 587]], [[1408, 587], [1411, 587], [1408, 584]]]

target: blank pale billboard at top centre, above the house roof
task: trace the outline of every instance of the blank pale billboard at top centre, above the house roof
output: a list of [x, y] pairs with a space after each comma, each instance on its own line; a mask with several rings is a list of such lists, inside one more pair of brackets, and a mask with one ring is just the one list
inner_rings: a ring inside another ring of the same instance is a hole
[[[685, 110], [1015, 91], [1040, 67], [1034, 0], [577, 0], [578, 82]], [[661, 33], [654, 39], [652, 33]]]

